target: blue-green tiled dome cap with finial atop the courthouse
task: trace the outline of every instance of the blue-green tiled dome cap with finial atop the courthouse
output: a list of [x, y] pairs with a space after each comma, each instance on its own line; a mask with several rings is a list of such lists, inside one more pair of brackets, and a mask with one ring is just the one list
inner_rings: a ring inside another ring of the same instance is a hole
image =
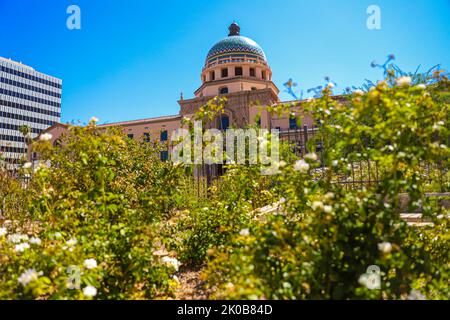
[[263, 49], [255, 41], [239, 34], [240, 28], [236, 23], [233, 23], [229, 30], [230, 34], [228, 37], [217, 42], [211, 50], [209, 50], [206, 61], [217, 55], [226, 53], [249, 53], [258, 56], [264, 61], [267, 61]]

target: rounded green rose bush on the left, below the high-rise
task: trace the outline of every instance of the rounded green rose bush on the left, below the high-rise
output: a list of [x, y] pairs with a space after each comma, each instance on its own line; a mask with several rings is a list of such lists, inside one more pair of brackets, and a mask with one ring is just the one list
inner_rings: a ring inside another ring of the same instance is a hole
[[[153, 252], [159, 249], [158, 223], [176, 201], [176, 184], [161, 186], [178, 169], [159, 161], [157, 148], [93, 123], [71, 127], [60, 147], [37, 142], [34, 150], [51, 166], [35, 168], [32, 225], [7, 226], [0, 240], [3, 298], [89, 297], [68, 288], [74, 268], [100, 299], [170, 294], [173, 267]], [[31, 244], [30, 237], [38, 240]], [[83, 267], [88, 259], [98, 265]], [[29, 285], [21, 281], [33, 274], [27, 270], [37, 273]]]

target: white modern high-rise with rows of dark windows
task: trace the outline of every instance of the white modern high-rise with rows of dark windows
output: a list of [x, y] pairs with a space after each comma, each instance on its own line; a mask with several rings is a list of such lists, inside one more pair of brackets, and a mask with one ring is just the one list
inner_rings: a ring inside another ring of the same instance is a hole
[[60, 121], [61, 92], [60, 79], [0, 57], [0, 165], [16, 169], [27, 139]]

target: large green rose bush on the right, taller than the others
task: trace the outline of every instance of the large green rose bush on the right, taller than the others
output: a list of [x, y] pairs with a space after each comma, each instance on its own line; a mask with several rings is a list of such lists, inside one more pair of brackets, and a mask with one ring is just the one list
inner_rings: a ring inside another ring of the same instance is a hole
[[[421, 167], [426, 162], [448, 172], [448, 89], [447, 79], [428, 89], [383, 82], [340, 103], [327, 88], [304, 105], [320, 120], [311, 154], [283, 169], [279, 213], [235, 234], [209, 259], [206, 276], [218, 287], [215, 297], [404, 299], [421, 292], [448, 298], [449, 210], [422, 199], [430, 175]], [[323, 145], [320, 171], [312, 154], [317, 142]], [[348, 190], [333, 182], [364, 160], [378, 163], [378, 184]], [[435, 186], [448, 191], [448, 179]], [[400, 194], [408, 195], [412, 209], [422, 201], [434, 225], [408, 226]], [[367, 287], [371, 265], [381, 269], [381, 290]]]

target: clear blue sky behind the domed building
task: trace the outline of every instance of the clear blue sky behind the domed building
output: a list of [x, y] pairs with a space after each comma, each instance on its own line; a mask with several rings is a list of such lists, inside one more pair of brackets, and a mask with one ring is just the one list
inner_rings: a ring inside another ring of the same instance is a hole
[[[81, 30], [66, 28], [71, 4]], [[381, 30], [366, 27], [371, 4]], [[389, 53], [405, 70], [450, 67], [449, 0], [0, 0], [0, 56], [63, 79], [63, 122], [177, 114], [233, 20], [263, 47], [281, 90], [289, 78], [307, 89], [328, 75], [338, 92], [379, 79], [370, 62]]]

